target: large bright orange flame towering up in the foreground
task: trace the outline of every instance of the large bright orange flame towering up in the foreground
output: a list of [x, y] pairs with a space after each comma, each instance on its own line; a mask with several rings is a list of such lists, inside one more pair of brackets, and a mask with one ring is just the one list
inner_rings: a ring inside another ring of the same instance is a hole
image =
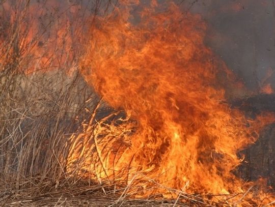
[[[69, 167], [81, 159], [79, 173], [100, 182], [146, 188], [146, 176], [187, 193], [236, 193], [230, 202], [240, 206], [254, 206], [253, 196], [265, 196], [246, 192], [254, 184], [245, 184], [234, 169], [241, 163], [237, 153], [255, 142], [273, 116], [248, 120], [230, 107], [225, 84], [217, 81], [227, 69], [204, 45], [205, 30], [200, 16], [182, 14], [174, 3], [163, 10], [156, 1], [144, 8], [122, 1], [95, 19], [81, 73], [126, 115], [109, 122], [111, 114], [92, 125], [93, 114], [83, 133], [72, 136]], [[171, 196], [159, 189], [135, 196], [156, 192]], [[269, 202], [270, 195], [263, 203]]]

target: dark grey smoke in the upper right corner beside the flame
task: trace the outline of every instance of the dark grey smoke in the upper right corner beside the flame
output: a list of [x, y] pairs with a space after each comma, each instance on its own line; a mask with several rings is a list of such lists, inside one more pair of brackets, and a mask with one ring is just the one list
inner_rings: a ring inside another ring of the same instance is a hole
[[272, 0], [182, 1], [208, 24], [206, 43], [249, 90], [275, 87], [275, 9]]

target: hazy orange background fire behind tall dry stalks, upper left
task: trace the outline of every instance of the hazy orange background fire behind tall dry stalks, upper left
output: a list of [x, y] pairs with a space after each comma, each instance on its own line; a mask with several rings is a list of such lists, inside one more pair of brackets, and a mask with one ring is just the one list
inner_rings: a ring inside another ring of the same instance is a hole
[[26, 74], [75, 65], [83, 32], [80, 22], [85, 20], [79, 5], [19, 0], [4, 1], [1, 7], [0, 64], [20, 56], [16, 62]]

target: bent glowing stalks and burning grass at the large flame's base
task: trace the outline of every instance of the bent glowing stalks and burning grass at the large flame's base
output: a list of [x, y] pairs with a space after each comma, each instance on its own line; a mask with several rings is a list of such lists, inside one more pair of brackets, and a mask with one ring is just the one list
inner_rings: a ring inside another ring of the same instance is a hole
[[[261, 185], [257, 186], [256, 183], [244, 184], [242, 188], [248, 190], [241, 193], [186, 193], [188, 183], [180, 190], [169, 188], [167, 187], [169, 180], [159, 182], [161, 174], [155, 178], [150, 178], [146, 175], [146, 171], [142, 172], [132, 167], [131, 162], [125, 169], [116, 170], [115, 166], [121, 158], [119, 152], [124, 152], [125, 148], [131, 148], [131, 142], [127, 136], [135, 133], [136, 123], [129, 117], [125, 117], [123, 111], [109, 112], [102, 119], [96, 119], [99, 108], [100, 102], [94, 108], [91, 119], [83, 123], [81, 130], [71, 137], [72, 145], [68, 155], [69, 167], [67, 172], [75, 174], [79, 178], [97, 181], [100, 185], [113, 186], [114, 192], [119, 193], [119, 197], [114, 200], [113, 205], [121, 205], [122, 203], [126, 205], [132, 200], [143, 205], [145, 198], [147, 201], [151, 201], [153, 206], [159, 202], [172, 206], [269, 206], [273, 203], [268, 194], [266, 197], [263, 195], [258, 197], [261, 191], [259, 186]], [[118, 158], [112, 159], [114, 161], [112, 166], [108, 165], [109, 154], [118, 156]], [[132, 173], [131, 170], [135, 172]], [[125, 180], [124, 174], [128, 175]], [[104, 187], [102, 192], [105, 192]], [[137, 199], [131, 199], [133, 197]], [[262, 203], [259, 203], [259, 200]], [[122, 203], [120, 204], [120, 202]], [[145, 206], [149, 204], [145, 203]], [[163, 206], [165, 205], [163, 204]]]

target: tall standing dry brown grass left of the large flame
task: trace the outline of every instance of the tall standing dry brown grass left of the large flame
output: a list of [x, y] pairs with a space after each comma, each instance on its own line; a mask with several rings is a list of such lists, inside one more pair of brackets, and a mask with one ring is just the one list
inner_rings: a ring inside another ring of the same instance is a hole
[[[0, 203], [21, 205], [17, 199], [30, 200], [72, 184], [64, 181], [68, 140], [87, 116], [85, 109], [93, 108], [98, 98], [77, 72], [79, 46], [45, 50], [53, 53], [41, 56], [47, 63], [41, 64], [35, 51], [46, 32], [37, 31], [28, 39], [30, 2], [10, 3], [11, 8], [0, 4]], [[52, 14], [48, 29], [59, 25], [57, 16]], [[70, 35], [70, 40], [79, 38]], [[52, 39], [43, 39], [45, 47]], [[57, 65], [65, 53], [70, 58]]]

